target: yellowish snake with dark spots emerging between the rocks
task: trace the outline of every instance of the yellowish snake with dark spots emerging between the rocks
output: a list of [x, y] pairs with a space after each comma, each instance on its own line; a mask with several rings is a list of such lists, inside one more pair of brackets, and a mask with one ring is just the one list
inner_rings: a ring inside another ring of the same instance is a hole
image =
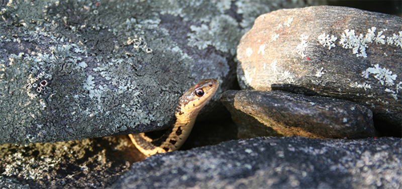
[[131, 141], [147, 157], [179, 149], [190, 134], [199, 111], [211, 100], [218, 86], [216, 79], [199, 81], [181, 96], [176, 106], [176, 121], [162, 137], [152, 140], [144, 133], [129, 134]]

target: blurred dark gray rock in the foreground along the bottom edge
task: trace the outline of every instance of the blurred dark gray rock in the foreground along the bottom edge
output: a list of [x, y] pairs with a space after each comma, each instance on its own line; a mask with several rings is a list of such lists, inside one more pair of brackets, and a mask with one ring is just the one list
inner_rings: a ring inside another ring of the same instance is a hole
[[398, 188], [402, 140], [254, 138], [158, 154], [109, 188]]

